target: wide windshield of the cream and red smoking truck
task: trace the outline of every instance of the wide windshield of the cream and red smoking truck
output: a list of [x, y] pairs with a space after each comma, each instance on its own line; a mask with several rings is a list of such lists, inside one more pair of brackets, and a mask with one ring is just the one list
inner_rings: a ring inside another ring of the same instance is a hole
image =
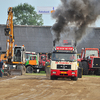
[[53, 61], [76, 61], [76, 54], [66, 54], [66, 53], [53, 53], [52, 54]]

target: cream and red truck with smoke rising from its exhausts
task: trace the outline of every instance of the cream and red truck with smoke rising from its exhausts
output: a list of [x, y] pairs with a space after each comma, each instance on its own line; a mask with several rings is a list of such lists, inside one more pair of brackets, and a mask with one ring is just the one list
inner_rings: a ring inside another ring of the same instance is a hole
[[47, 78], [55, 80], [65, 77], [76, 81], [82, 77], [82, 68], [77, 62], [77, 49], [75, 47], [56, 46], [51, 55], [51, 62], [46, 66]]

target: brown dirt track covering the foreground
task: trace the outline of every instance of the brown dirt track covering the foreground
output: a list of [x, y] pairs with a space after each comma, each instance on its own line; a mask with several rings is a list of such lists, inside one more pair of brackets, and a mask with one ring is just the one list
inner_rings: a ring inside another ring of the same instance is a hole
[[100, 100], [100, 78], [48, 80], [45, 76], [0, 78], [0, 100]]

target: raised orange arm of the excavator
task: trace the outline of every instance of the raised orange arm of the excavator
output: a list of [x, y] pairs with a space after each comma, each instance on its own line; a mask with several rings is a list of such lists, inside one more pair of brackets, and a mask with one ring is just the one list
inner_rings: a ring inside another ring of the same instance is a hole
[[12, 7], [8, 8], [8, 19], [6, 23], [6, 28], [4, 29], [5, 36], [7, 36], [6, 44], [6, 61], [12, 62], [13, 59], [13, 46], [14, 46], [14, 34], [13, 34], [13, 11]]

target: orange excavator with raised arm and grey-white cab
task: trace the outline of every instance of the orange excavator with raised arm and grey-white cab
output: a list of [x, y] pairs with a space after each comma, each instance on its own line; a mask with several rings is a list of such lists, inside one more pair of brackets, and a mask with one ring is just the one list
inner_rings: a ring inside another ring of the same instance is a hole
[[8, 8], [8, 19], [4, 32], [5, 36], [7, 37], [4, 73], [8, 73], [10, 75], [23, 75], [26, 73], [26, 68], [25, 68], [26, 50], [24, 45], [22, 46], [14, 45], [12, 7]]

